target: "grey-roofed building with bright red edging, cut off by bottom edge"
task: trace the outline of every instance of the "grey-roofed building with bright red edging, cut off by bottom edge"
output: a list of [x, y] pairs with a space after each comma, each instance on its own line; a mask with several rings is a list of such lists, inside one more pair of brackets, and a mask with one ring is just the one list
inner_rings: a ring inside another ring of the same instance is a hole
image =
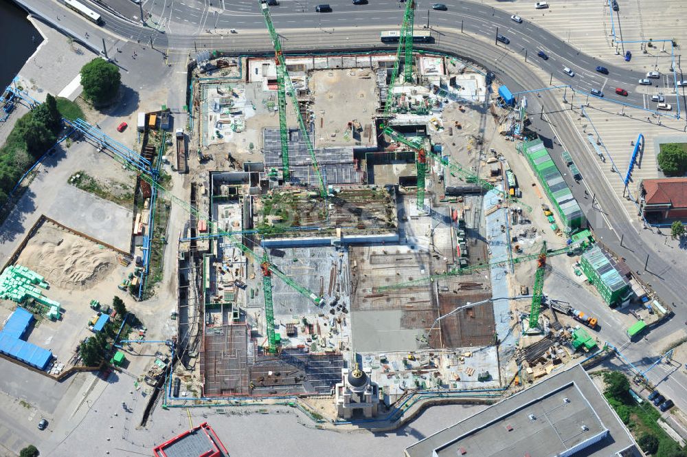
[[229, 457], [217, 434], [207, 422], [174, 436], [153, 448], [155, 457]]

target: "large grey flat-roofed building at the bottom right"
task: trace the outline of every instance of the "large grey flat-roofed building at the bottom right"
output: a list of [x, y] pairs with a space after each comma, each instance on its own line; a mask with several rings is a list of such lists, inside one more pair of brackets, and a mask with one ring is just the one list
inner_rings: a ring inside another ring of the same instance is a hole
[[[592, 446], [593, 445], [593, 446]], [[408, 457], [609, 457], [633, 438], [579, 366], [407, 447]]]

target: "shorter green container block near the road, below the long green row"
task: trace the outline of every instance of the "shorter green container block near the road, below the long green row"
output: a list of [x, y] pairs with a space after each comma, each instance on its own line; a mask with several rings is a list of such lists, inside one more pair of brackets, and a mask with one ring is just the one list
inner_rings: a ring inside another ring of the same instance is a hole
[[580, 267], [589, 283], [596, 287], [603, 300], [610, 305], [623, 300], [630, 285], [616, 269], [616, 265], [600, 247], [594, 246], [582, 254]]

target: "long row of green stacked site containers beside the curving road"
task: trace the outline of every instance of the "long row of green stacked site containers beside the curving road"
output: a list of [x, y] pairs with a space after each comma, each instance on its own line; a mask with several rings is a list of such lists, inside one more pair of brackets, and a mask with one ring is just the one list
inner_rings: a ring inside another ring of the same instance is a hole
[[521, 151], [527, 157], [539, 183], [541, 183], [549, 200], [556, 208], [556, 212], [561, 217], [561, 221], [565, 225], [565, 232], [574, 232], [583, 227], [585, 215], [575, 197], [572, 196], [570, 188], [567, 187], [563, 175], [556, 168], [556, 164], [551, 159], [543, 142], [541, 140], [526, 142], [522, 145]]

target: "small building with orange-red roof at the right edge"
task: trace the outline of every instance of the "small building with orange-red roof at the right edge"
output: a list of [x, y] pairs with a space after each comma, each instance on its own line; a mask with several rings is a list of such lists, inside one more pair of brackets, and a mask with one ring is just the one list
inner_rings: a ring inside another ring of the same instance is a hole
[[646, 219], [687, 219], [687, 178], [644, 179], [640, 189]]

